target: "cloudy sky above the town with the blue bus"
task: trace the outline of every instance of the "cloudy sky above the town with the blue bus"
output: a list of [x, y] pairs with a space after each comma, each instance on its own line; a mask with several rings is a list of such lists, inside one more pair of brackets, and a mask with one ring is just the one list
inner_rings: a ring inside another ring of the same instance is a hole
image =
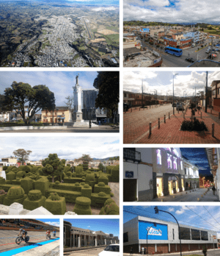
[[220, 21], [219, 0], [124, 0], [124, 21]]

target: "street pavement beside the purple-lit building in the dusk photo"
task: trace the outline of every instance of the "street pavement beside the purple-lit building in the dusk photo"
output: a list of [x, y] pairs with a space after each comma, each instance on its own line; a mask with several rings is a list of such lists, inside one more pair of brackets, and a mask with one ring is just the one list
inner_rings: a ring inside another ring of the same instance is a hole
[[[153, 199], [153, 202], [217, 202], [218, 197], [213, 195], [213, 191], [210, 189], [207, 193], [207, 188], [197, 188], [190, 191], [184, 191], [175, 193], [169, 196], [161, 196], [158, 199]], [[205, 193], [205, 195], [204, 195]], [[175, 196], [175, 198], [174, 198]], [[199, 201], [198, 201], [199, 199]]]

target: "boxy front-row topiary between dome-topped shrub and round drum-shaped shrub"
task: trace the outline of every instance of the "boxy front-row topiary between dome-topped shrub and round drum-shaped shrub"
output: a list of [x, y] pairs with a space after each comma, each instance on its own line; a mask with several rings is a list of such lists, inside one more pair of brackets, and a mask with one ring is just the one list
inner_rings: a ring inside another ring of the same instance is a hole
[[54, 215], [63, 215], [66, 212], [65, 197], [57, 193], [51, 193], [51, 196], [45, 200], [45, 208]]

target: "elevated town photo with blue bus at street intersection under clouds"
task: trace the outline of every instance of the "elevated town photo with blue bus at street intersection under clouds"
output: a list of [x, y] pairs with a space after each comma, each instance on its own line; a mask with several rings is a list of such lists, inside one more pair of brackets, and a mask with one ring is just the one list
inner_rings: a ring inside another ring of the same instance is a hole
[[216, 8], [204, 0], [199, 6], [197, 1], [125, 0], [124, 67], [218, 67]]

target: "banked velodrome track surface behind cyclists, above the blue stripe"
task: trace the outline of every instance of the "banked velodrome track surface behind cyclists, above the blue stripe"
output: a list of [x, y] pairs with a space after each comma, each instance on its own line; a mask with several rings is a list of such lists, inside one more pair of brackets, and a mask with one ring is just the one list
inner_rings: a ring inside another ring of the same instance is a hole
[[[21, 242], [15, 243], [15, 239], [18, 237], [18, 230], [1, 230], [0, 235], [0, 254], [1, 252], [7, 252], [11, 249], [21, 248], [23, 246], [32, 245], [34, 243], [40, 243], [46, 241], [45, 232], [28, 231], [30, 240], [28, 243]], [[52, 238], [52, 235], [51, 235]], [[59, 238], [59, 232], [56, 232], [56, 238]]]

